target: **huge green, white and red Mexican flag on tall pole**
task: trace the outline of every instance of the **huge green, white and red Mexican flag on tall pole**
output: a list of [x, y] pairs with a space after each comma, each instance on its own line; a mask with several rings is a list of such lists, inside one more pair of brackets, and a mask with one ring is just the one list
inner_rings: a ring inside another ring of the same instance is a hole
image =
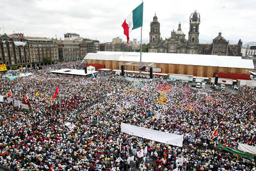
[[133, 29], [141, 27], [143, 23], [143, 3], [141, 3], [137, 8], [132, 10], [132, 12], [124, 20], [122, 27], [124, 28], [124, 34], [127, 37], [127, 43], [129, 43], [129, 33]]

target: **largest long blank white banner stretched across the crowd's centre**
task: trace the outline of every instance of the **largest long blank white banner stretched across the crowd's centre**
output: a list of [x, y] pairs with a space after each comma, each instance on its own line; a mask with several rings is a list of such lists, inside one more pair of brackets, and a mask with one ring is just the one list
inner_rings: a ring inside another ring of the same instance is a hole
[[148, 140], [163, 142], [165, 144], [176, 145], [179, 147], [182, 147], [184, 137], [184, 135], [150, 130], [147, 128], [141, 128], [139, 126], [133, 126], [131, 124], [125, 123], [121, 123], [121, 131], [130, 135], [135, 135], [137, 137], [147, 138]]

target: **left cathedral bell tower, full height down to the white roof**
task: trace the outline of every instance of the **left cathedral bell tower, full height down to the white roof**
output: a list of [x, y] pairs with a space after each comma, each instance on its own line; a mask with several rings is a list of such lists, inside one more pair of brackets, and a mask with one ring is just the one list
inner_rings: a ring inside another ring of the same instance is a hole
[[157, 21], [157, 16], [153, 17], [153, 22], [150, 22], [149, 32], [149, 49], [148, 52], [157, 52], [157, 45], [160, 42], [160, 23]]

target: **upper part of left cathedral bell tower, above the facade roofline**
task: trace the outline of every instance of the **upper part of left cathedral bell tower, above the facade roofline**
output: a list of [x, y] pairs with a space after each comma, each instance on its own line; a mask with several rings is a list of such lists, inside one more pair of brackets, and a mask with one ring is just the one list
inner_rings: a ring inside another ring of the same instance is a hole
[[149, 43], [159, 43], [160, 41], [160, 23], [157, 21], [157, 16], [153, 17], [153, 22], [150, 22]]

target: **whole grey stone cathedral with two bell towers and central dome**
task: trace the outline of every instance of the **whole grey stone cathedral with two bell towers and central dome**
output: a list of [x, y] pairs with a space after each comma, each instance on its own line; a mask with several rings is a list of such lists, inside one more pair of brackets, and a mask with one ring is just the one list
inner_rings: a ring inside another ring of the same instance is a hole
[[199, 43], [200, 14], [196, 11], [189, 17], [188, 40], [181, 29], [172, 31], [171, 37], [163, 40], [160, 33], [160, 23], [157, 16], [150, 22], [148, 52], [177, 53], [177, 54], [207, 54], [218, 56], [241, 56], [242, 41], [237, 44], [228, 43], [221, 33], [212, 40], [212, 43]]

